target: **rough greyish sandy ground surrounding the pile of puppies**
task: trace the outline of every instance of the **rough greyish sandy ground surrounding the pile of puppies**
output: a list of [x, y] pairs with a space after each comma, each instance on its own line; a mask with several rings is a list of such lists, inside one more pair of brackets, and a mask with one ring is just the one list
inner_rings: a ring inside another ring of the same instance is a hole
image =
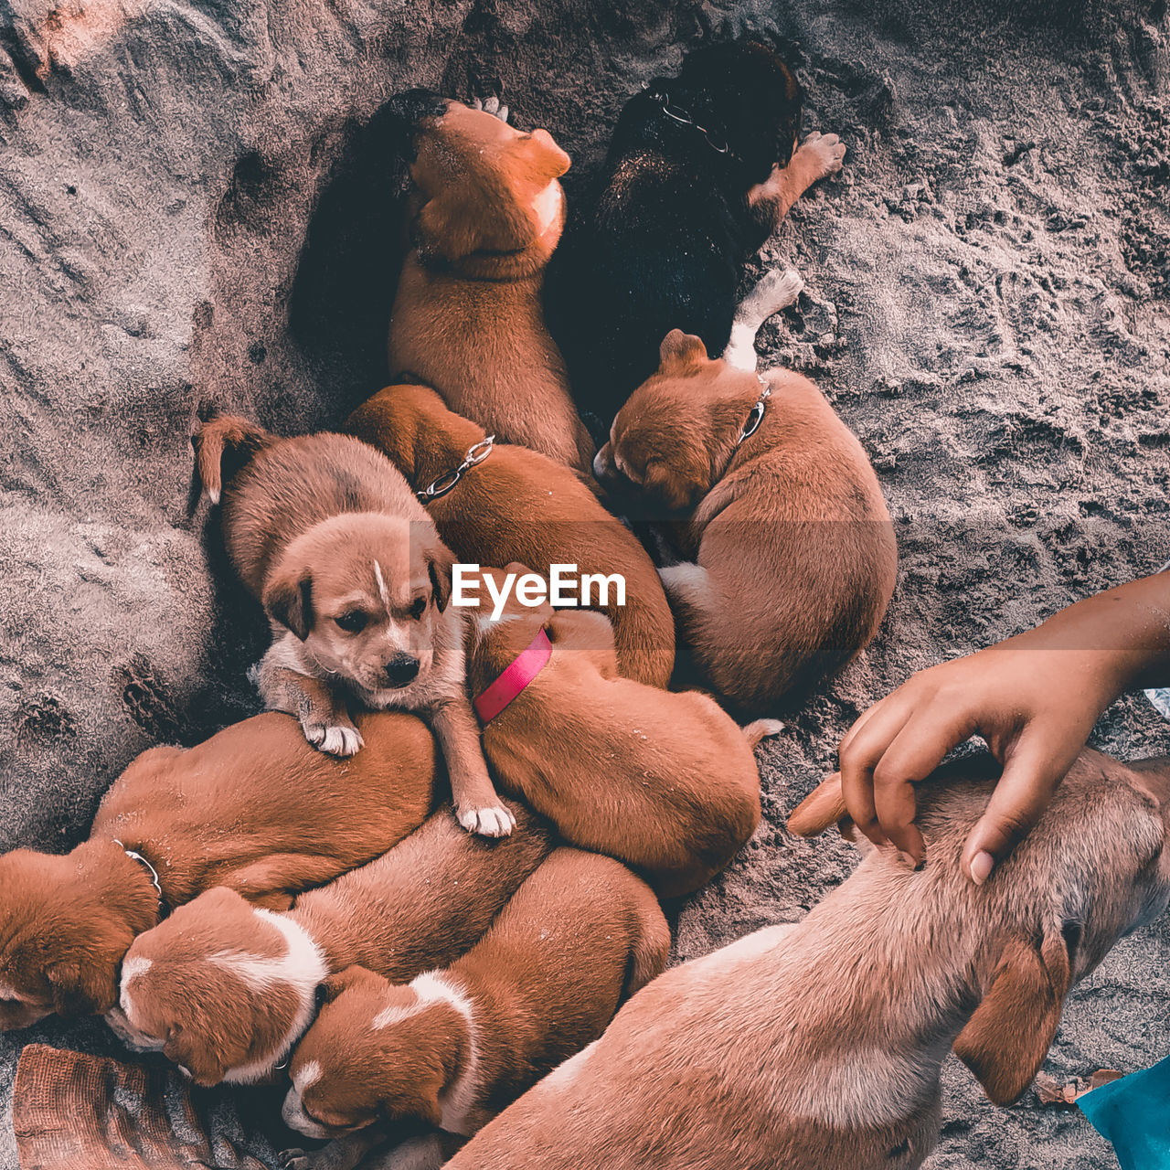
[[[1164, 0], [50, 7], [0, 2], [0, 847], [67, 847], [137, 751], [254, 709], [261, 632], [188, 514], [187, 435], [213, 406], [329, 425], [380, 384], [398, 176], [370, 119], [410, 84], [502, 84], [573, 154], [572, 197], [625, 98], [730, 27], [791, 56], [807, 128], [849, 147], [756, 266], [806, 281], [763, 347], [872, 454], [899, 589], [764, 749], [768, 824], [683, 908], [680, 958], [847, 874], [847, 846], [780, 826], [867, 703], [1170, 557]], [[1170, 750], [1140, 698], [1096, 738]], [[1166, 921], [1119, 945], [1046, 1068], [1170, 1052], [1168, 955]], [[6, 1170], [34, 1038], [109, 1047], [92, 1025], [0, 1037]], [[1113, 1164], [1079, 1114], [997, 1109], [957, 1064], [944, 1115], [936, 1170]]]

